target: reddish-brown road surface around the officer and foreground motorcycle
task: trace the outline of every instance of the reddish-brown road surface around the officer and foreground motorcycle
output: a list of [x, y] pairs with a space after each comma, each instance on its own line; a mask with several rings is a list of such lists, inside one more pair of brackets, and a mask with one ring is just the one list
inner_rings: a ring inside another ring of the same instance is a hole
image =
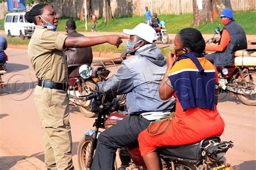
[[[8, 49], [6, 52], [9, 55], [8, 73], [4, 75], [7, 86], [0, 90], [0, 149], [8, 151], [12, 158], [24, 155], [44, 160], [43, 133], [33, 101], [35, 73], [25, 50]], [[112, 73], [116, 69], [111, 67]], [[226, 154], [226, 161], [234, 169], [256, 169], [255, 107], [243, 105], [229, 95], [221, 94], [220, 98], [218, 109], [226, 123], [221, 138], [232, 140], [235, 145]], [[73, 161], [78, 169], [78, 142], [95, 119], [85, 118], [76, 107], [71, 107], [70, 111]]]

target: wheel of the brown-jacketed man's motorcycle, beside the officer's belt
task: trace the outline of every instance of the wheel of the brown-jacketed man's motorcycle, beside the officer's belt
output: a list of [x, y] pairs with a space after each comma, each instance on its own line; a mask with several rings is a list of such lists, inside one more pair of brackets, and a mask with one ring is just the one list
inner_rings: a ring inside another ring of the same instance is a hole
[[[96, 86], [95, 84], [86, 81], [85, 82], [85, 87], [84, 87], [85, 91], [86, 91], [86, 94], [90, 94], [95, 89], [95, 86]], [[92, 100], [90, 100], [90, 105], [91, 105], [91, 102], [92, 102]], [[91, 112], [91, 106], [90, 105], [89, 106], [79, 106], [79, 111], [81, 113], [83, 113], [83, 115], [86, 118], [93, 118], [93, 117], [97, 116], [96, 113]]]

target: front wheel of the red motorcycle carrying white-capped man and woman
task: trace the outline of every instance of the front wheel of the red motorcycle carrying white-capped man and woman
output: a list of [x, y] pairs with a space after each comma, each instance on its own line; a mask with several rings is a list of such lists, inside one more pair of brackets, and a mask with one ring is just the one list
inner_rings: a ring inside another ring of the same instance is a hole
[[[89, 159], [93, 159], [93, 155], [91, 155], [90, 148], [92, 147], [91, 145], [92, 138], [89, 136], [85, 136], [82, 139], [80, 139], [79, 144], [78, 144], [78, 149], [77, 149], [77, 155], [78, 155], [78, 165], [79, 169], [81, 170], [90, 170], [91, 167], [86, 167], [87, 162], [89, 162]], [[117, 162], [114, 161], [114, 170], [117, 170]]]

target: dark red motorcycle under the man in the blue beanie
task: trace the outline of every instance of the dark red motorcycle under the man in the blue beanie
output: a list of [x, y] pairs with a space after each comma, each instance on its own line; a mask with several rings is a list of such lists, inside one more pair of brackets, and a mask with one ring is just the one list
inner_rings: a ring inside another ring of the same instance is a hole
[[[220, 34], [217, 27], [214, 36]], [[214, 36], [207, 44], [217, 44]], [[239, 50], [234, 53], [234, 64], [217, 66], [219, 77], [219, 93], [230, 92], [234, 98], [239, 98], [246, 105], [256, 105], [256, 49]]]

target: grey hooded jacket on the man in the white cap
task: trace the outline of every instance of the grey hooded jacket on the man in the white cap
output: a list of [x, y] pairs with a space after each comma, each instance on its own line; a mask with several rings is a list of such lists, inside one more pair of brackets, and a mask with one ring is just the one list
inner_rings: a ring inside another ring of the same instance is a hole
[[116, 74], [99, 84], [99, 92], [127, 94], [129, 114], [147, 111], [170, 111], [175, 99], [161, 100], [158, 89], [167, 65], [156, 44], [139, 50], [123, 61]]

